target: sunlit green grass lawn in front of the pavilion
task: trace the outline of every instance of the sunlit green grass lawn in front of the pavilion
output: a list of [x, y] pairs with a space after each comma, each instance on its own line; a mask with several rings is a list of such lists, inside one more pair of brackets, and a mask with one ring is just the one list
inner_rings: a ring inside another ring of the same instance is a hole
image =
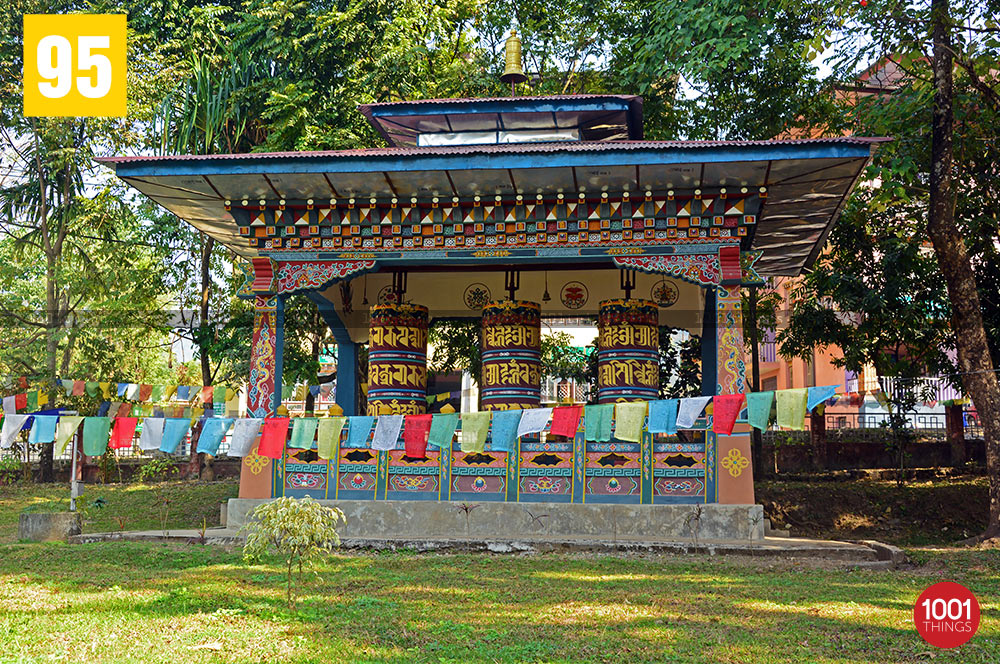
[[[171, 483], [172, 526], [217, 514], [232, 487]], [[159, 528], [153, 493], [89, 486], [87, 501], [107, 506], [87, 530], [116, 529], [116, 512], [126, 528]], [[276, 559], [14, 542], [17, 512], [58, 500], [56, 487], [0, 488], [0, 663], [1000, 661], [1000, 550], [911, 551], [916, 565], [894, 571], [695, 556], [338, 555], [307, 575], [289, 611]], [[912, 624], [917, 596], [941, 580], [968, 586], [982, 607], [979, 633], [954, 651], [927, 645]]]

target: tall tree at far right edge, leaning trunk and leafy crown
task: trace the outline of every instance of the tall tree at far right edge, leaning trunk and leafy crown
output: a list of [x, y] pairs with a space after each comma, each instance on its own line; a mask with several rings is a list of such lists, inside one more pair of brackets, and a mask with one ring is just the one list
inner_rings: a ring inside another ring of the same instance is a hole
[[[895, 134], [910, 150], [894, 152], [894, 160], [880, 157], [879, 198], [886, 207], [910, 199], [920, 202], [925, 224], [918, 237], [929, 240], [947, 287], [951, 342], [963, 385], [976, 405], [986, 436], [990, 518], [983, 537], [998, 537], [1000, 383], [983, 319], [982, 284], [977, 284], [974, 267], [976, 262], [984, 262], [981, 256], [995, 255], [995, 248], [990, 248], [994, 243], [984, 242], [981, 232], [996, 228], [996, 216], [958, 217], [956, 211], [967, 214], [969, 207], [956, 207], [956, 197], [962, 200], [969, 194], [975, 200], [983, 192], [994, 191], [991, 181], [996, 179], [996, 167], [989, 164], [991, 160], [997, 163], [995, 146], [990, 141], [977, 144], [974, 137], [997, 134], [1000, 82], [995, 69], [1000, 27], [993, 17], [1000, 5], [996, 0], [985, 4], [930, 0], [916, 5], [888, 0], [880, 5], [874, 11], [845, 5], [836, 12], [823, 12], [817, 3], [812, 12], [816, 36], [806, 53], [813, 57], [832, 47], [835, 73], [842, 79], [853, 79], [860, 68], [872, 63], [886, 63], [898, 70], [900, 90], [887, 89], [867, 104], [881, 117], [902, 116], [900, 104], [905, 108], [913, 99], [924, 102], [919, 108], [911, 107], [915, 112], [905, 117]], [[878, 79], [874, 81], [877, 88]], [[956, 100], [961, 106], [956, 107]], [[963, 119], [958, 125], [956, 113]], [[914, 117], [920, 121], [914, 122]], [[867, 119], [857, 115], [859, 123]], [[928, 125], [930, 132], [926, 131]], [[956, 150], [956, 145], [963, 143], [966, 149]], [[995, 210], [995, 203], [989, 208]], [[971, 253], [977, 247], [983, 252], [980, 257]]]

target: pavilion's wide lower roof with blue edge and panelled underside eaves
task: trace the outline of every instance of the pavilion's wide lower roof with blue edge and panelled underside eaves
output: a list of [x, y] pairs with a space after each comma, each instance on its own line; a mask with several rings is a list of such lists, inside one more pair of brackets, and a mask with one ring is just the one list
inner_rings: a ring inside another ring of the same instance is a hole
[[[460, 106], [463, 101], [490, 100], [443, 100], [440, 105]], [[261, 255], [260, 249], [240, 233], [227, 209], [242, 201], [251, 206], [283, 201], [283, 206], [304, 208], [310, 200], [316, 206], [343, 205], [351, 199], [359, 205], [388, 206], [393, 200], [417, 199], [430, 206], [437, 199], [464, 202], [487, 196], [600, 199], [604, 193], [615, 198], [623, 192], [633, 197], [649, 192], [654, 199], [666, 199], [668, 192], [683, 197], [699, 189], [718, 193], [728, 188], [750, 195], [764, 188], [744, 248], [763, 251], [757, 263], [762, 274], [794, 276], [816, 259], [873, 150], [886, 140], [612, 140], [100, 161], [138, 191], [248, 258]]]

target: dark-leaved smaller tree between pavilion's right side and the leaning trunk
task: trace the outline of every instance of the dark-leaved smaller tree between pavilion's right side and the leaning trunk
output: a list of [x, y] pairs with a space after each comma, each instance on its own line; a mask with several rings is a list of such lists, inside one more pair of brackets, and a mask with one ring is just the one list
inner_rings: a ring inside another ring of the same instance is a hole
[[778, 336], [782, 355], [809, 359], [816, 346], [835, 345], [843, 353], [836, 366], [875, 369], [901, 470], [907, 413], [931, 398], [920, 378], [953, 367], [947, 292], [934, 254], [915, 239], [920, 223], [917, 201], [882, 209], [876, 190], [863, 186], [828, 251], [793, 291], [792, 315]]

